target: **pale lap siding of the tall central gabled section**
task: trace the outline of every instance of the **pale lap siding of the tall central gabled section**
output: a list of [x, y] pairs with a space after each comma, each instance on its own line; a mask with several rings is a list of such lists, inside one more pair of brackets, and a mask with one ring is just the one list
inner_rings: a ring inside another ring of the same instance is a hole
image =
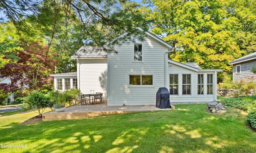
[[[110, 93], [108, 105], [156, 104], [156, 92], [164, 87], [164, 52], [166, 47], [148, 37], [143, 42], [144, 62], [133, 62], [134, 44], [116, 47], [118, 55], [109, 58]], [[154, 47], [153, 47], [154, 46]], [[129, 75], [153, 75], [153, 87], [129, 86]]]

